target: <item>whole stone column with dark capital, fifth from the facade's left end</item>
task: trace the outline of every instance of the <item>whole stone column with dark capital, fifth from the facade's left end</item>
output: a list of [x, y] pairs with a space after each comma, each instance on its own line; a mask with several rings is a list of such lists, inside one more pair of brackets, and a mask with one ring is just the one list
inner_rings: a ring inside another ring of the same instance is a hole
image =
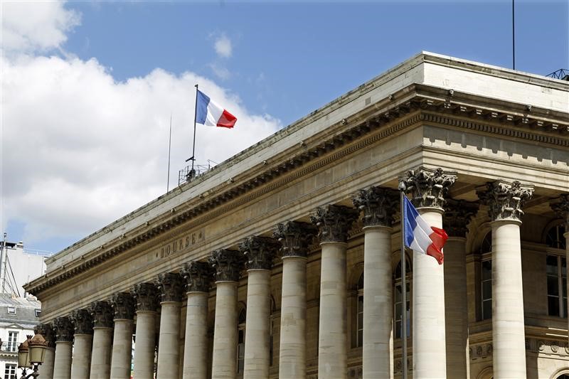
[[134, 298], [119, 292], [111, 297], [115, 333], [112, 338], [111, 379], [130, 379]]

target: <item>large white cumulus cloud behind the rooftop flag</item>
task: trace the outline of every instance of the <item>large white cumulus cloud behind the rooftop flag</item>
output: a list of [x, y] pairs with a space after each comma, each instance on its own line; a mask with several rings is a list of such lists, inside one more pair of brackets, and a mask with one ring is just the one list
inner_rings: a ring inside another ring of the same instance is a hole
[[[58, 25], [64, 31], [70, 23]], [[28, 36], [19, 46], [65, 41]], [[25, 225], [28, 246], [88, 235], [165, 193], [170, 114], [170, 188], [176, 186], [191, 155], [196, 83], [238, 117], [235, 129], [198, 125], [198, 164], [228, 159], [280, 128], [277, 119], [251, 114], [237, 94], [191, 72], [156, 68], [117, 82], [95, 58], [26, 53], [0, 59], [0, 227]]]

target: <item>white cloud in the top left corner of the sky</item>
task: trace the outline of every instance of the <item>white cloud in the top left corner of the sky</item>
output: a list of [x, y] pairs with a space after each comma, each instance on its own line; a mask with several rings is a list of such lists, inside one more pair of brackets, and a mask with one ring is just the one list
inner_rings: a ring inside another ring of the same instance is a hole
[[59, 48], [66, 32], [81, 21], [80, 14], [62, 1], [2, 1], [1, 49], [3, 53]]

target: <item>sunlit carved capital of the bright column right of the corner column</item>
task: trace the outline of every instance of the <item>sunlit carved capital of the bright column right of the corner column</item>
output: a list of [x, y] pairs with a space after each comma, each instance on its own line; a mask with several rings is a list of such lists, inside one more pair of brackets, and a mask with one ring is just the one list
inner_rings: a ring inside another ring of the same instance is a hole
[[477, 191], [478, 197], [488, 205], [488, 215], [492, 221], [521, 221], [523, 203], [533, 194], [533, 186], [521, 185], [519, 181], [492, 181], [486, 183], [486, 191]]

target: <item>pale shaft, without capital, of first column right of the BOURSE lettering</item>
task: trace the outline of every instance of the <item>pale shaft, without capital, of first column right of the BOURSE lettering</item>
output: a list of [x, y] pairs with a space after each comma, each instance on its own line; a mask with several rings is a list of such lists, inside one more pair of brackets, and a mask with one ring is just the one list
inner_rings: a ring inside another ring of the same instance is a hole
[[216, 282], [212, 379], [237, 375], [237, 282]]

